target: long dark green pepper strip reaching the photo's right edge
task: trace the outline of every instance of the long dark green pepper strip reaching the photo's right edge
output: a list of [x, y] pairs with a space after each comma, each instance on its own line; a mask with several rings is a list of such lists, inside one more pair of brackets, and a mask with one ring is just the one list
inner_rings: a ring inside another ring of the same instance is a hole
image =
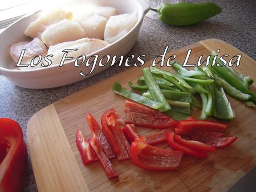
[[[215, 56], [215, 53], [211, 53], [210, 57], [210, 63], [213, 62], [213, 57]], [[216, 59], [216, 63], [221, 63], [221, 61], [219, 60], [219, 58], [217, 57]], [[230, 83], [230, 85], [232, 85], [233, 87], [237, 88], [237, 90], [242, 91], [243, 93], [249, 94], [252, 97], [250, 98], [250, 101], [254, 102], [254, 104], [256, 104], [256, 93], [250, 91], [248, 89], [248, 86], [244, 84], [244, 81], [241, 80], [241, 78], [239, 78], [237, 75], [234, 75], [234, 70], [230, 70], [230, 68], [228, 67], [218, 67], [216, 65], [213, 66], [214, 70], [216, 70], [220, 77], [223, 78], [225, 81], [227, 81], [228, 83]]]

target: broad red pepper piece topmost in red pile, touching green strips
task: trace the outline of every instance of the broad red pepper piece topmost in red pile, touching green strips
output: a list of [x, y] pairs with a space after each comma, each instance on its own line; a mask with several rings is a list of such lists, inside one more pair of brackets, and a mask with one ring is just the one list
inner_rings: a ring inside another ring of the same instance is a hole
[[177, 121], [171, 119], [168, 115], [130, 100], [125, 101], [125, 112], [126, 124], [152, 129], [167, 129], [177, 124]]

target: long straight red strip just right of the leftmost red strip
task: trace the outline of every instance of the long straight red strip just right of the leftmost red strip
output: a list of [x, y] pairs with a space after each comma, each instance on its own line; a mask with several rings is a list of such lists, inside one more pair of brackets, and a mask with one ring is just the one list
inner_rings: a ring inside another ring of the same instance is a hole
[[109, 142], [107, 142], [107, 139], [104, 136], [100, 125], [97, 123], [97, 121], [93, 118], [93, 116], [91, 114], [87, 114], [86, 119], [87, 119], [87, 122], [91, 129], [92, 134], [95, 134], [96, 139], [98, 140], [102, 149], [104, 150], [105, 154], [107, 155], [107, 158], [109, 158], [109, 159], [114, 158], [115, 154], [112, 151], [112, 149], [109, 145]]

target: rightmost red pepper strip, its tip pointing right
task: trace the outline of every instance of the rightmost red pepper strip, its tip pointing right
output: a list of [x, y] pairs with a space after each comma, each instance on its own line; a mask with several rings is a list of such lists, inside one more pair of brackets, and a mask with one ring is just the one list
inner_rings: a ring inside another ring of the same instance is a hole
[[198, 132], [190, 136], [195, 141], [200, 141], [205, 144], [211, 145], [215, 148], [226, 148], [235, 142], [238, 137], [229, 136], [223, 137], [224, 134], [218, 132]]

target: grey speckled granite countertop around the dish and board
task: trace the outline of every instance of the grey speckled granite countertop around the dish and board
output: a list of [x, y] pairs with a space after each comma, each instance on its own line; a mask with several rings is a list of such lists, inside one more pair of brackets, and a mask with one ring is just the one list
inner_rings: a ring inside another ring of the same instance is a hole
[[[167, 45], [170, 45], [169, 51], [171, 51], [208, 38], [218, 38], [237, 47], [255, 60], [256, 2], [254, 0], [213, 2], [219, 4], [223, 8], [223, 12], [195, 26], [170, 27], [156, 19], [145, 17], [137, 42], [128, 55], [145, 53], [146, 60], [150, 60], [150, 58], [160, 55]], [[0, 76], [0, 117], [16, 120], [21, 125], [27, 142], [27, 122], [38, 110], [125, 69], [124, 65], [110, 67], [87, 80], [45, 90], [17, 87], [7, 78]], [[29, 171], [23, 191], [37, 191], [29, 157], [28, 160]]]

